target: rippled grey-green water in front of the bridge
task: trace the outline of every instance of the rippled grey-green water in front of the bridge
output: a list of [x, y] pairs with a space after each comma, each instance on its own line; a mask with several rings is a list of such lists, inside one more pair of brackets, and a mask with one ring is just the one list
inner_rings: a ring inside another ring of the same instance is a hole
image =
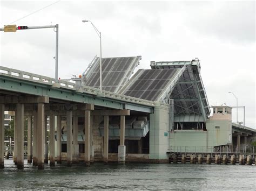
[[126, 164], [90, 167], [65, 164], [43, 171], [12, 160], [0, 169], [0, 189], [184, 189], [256, 190], [256, 166], [199, 164]]

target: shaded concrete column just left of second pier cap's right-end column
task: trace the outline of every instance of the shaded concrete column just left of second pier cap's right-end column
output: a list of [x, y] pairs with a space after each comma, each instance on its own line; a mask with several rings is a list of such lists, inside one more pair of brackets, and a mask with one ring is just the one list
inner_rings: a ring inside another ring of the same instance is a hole
[[78, 117], [73, 116], [73, 164], [78, 164], [79, 162], [79, 151], [78, 151]]

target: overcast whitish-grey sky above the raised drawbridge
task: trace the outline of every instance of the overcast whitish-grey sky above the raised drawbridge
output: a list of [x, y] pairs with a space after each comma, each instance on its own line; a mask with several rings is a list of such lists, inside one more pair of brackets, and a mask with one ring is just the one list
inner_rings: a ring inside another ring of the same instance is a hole
[[[0, 26], [8, 25], [55, 1], [1, 1]], [[81, 74], [97, 54], [102, 32], [103, 57], [141, 55], [150, 61], [201, 61], [210, 105], [245, 106], [245, 124], [256, 129], [255, 2], [85, 2], [60, 1], [13, 23], [59, 24], [59, 77]], [[55, 76], [53, 29], [0, 33], [0, 65]], [[233, 109], [233, 121], [236, 121]], [[239, 109], [238, 121], [243, 120]]]

